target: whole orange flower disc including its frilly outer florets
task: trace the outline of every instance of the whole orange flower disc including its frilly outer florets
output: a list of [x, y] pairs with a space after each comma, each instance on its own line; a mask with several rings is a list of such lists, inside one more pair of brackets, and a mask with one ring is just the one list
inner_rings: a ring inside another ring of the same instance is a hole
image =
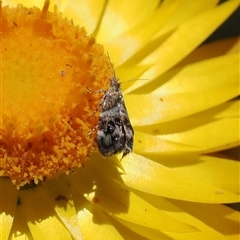
[[0, 176], [18, 187], [81, 166], [112, 69], [103, 47], [56, 7], [1, 7]]

